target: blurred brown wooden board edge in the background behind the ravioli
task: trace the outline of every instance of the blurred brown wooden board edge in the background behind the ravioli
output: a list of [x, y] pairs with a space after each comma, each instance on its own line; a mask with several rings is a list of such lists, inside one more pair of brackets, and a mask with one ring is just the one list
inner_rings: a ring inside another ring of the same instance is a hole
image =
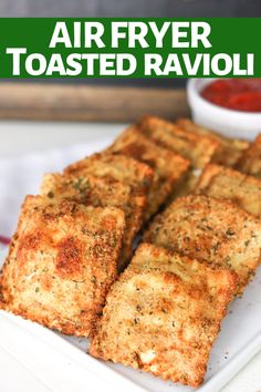
[[189, 113], [184, 89], [0, 84], [0, 118], [133, 122]]

